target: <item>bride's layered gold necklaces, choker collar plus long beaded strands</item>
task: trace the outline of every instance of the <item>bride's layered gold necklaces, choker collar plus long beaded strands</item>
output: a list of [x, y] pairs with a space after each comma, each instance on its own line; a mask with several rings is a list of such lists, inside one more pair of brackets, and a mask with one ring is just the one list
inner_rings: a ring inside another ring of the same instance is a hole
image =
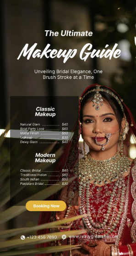
[[[131, 161], [127, 157], [121, 156], [118, 151], [114, 157], [110, 159], [98, 161], [92, 159], [87, 154], [86, 158], [81, 158], [74, 167], [74, 172], [79, 173], [79, 196], [81, 197], [81, 204], [79, 207], [80, 214], [87, 213], [87, 217], [82, 218], [85, 228], [95, 234], [109, 235], [116, 228], [117, 223], [120, 221], [120, 216], [124, 210], [125, 201], [125, 179], [124, 173], [128, 172], [131, 167]], [[107, 184], [114, 179], [113, 191], [109, 198], [108, 210], [106, 212], [103, 223], [94, 222], [91, 216], [90, 206], [90, 183], [93, 184]], [[117, 197], [117, 198], [116, 198]], [[119, 210], [114, 210], [114, 205], [118, 204], [120, 198]], [[113, 204], [114, 201], [114, 204]]]

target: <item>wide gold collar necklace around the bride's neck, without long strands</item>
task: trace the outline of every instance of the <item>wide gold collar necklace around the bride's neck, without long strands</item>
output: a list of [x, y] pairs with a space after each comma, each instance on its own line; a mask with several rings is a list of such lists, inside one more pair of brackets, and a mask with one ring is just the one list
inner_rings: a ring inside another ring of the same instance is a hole
[[76, 163], [74, 171], [79, 173], [80, 183], [83, 186], [90, 184], [107, 184], [118, 179], [120, 174], [127, 173], [131, 167], [131, 161], [126, 156], [121, 156], [117, 151], [115, 156], [106, 160], [95, 160], [90, 154], [81, 158]]

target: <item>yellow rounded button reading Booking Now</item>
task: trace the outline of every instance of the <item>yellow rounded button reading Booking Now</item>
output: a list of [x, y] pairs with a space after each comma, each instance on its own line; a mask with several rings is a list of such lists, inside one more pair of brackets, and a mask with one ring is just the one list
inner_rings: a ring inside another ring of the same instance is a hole
[[64, 211], [66, 204], [64, 201], [28, 201], [26, 203], [28, 211]]

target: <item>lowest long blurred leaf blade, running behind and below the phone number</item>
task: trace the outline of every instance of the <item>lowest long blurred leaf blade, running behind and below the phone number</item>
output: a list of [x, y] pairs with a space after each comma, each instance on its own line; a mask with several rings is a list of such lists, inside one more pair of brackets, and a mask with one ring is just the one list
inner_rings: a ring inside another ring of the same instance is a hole
[[62, 239], [62, 235], [65, 234], [66, 238], [72, 235], [80, 235], [87, 232], [85, 229], [80, 229], [80, 230], [70, 230], [70, 231], [62, 231], [62, 232], [55, 232], [55, 233], [49, 233], [45, 235], [45, 238], [43, 239], [38, 239], [38, 235], [36, 236], [36, 239], [13, 239], [13, 240], [8, 240], [0, 243], [0, 250], [9, 250], [11, 248], [16, 248], [19, 246], [26, 246], [26, 245], [36, 245], [36, 244], [42, 244], [46, 242], [51, 242], [54, 241], [54, 238], [47, 238], [48, 236], [57, 236], [55, 240], [60, 240]]

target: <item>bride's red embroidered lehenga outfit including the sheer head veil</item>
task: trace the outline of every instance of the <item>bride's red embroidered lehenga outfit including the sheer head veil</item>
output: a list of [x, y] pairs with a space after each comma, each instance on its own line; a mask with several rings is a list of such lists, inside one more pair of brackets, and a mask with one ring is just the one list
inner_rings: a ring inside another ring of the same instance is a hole
[[[85, 89], [79, 99], [79, 115], [81, 108], [81, 99], [87, 94], [88, 91], [96, 88], [97, 84], [93, 84]], [[107, 87], [103, 87], [105, 92], [109, 93]], [[101, 87], [100, 87], [101, 89]], [[88, 243], [90, 240], [101, 240], [109, 245], [117, 245], [120, 249], [120, 255], [136, 256], [136, 159], [131, 163], [125, 156], [128, 156], [130, 137], [133, 137], [136, 143], [136, 123], [129, 108], [122, 102], [120, 96], [110, 89], [113, 95], [116, 95], [116, 100], [123, 107], [126, 121], [129, 124], [129, 132], [123, 141], [124, 156], [117, 152], [112, 159], [113, 171], [119, 169], [118, 158], [124, 157], [125, 165], [120, 163], [123, 168], [130, 168], [129, 175], [122, 178], [116, 177], [117, 180], [104, 184], [99, 187], [96, 184], [86, 182], [83, 185], [81, 182], [82, 172], [87, 172], [84, 168], [84, 158], [78, 161], [78, 141], [81, 134], [81, 126], [79, 117], [73, 130], [74, 135], [65, 147], [65, 151], [60, 158], [59, 164], [55, 171], [58, 171], [59, 179], [61, 179], [61, 172], [63, 168], [69, 170], [69, 177], [75, 175], [78, 171], [79, 178], [73, 181], [73, 191], [78, 191], [81, 198], [81, 203], [76, 215], [87, 213], [88, 216], [74, 221], [71, 225], [71, 230], [88, 229], [88, 233], [79, 235], [76, 238], [71, 238], [71, 245]], [[88, 164], [89, 164], [89, 156]], [[120, 158], [121, 159], [121, 158]], [[122, 158], [123, 159], [123, 158]], [[104, 160], [107, 161], [107, 160]], [[120, 160], [121, 161], [121, 160]], [[95, 163], [94, 163], [95, 164]], [[125, 167], [124, 167], [125, 166]], [[125, 170], [121, 170], [122, 174]], [[53, 174], [52, 178], [56, 175]], [[84, 175], [86, 176], [86, 174]], [[113, 178], [114, 180], [114, 178]], [[112, 181], [112, 180], [111, 180]], [[51, 196], [49, 200], [59, 200], [60, 192]], [[38, 224], [49, 223], [56, 220], [56, 212], [41, 212]], [[63, 231], [61, 228], [53, 230], [39, 230], [38, 234], [47, 234], [54, 231]], [[67, 241], [70, 244], [70, 239]], [[59, 245], [59, 241], [52, 243], [52, 246]], [[40, 244], [36, 247], [50, 246], [50, 243]], [[131, 249], [129, 250], [129, 246]], [[131, 253], [131, 254], [130, 254]], [[42, 254], [43, 256], [45, 254]]]

